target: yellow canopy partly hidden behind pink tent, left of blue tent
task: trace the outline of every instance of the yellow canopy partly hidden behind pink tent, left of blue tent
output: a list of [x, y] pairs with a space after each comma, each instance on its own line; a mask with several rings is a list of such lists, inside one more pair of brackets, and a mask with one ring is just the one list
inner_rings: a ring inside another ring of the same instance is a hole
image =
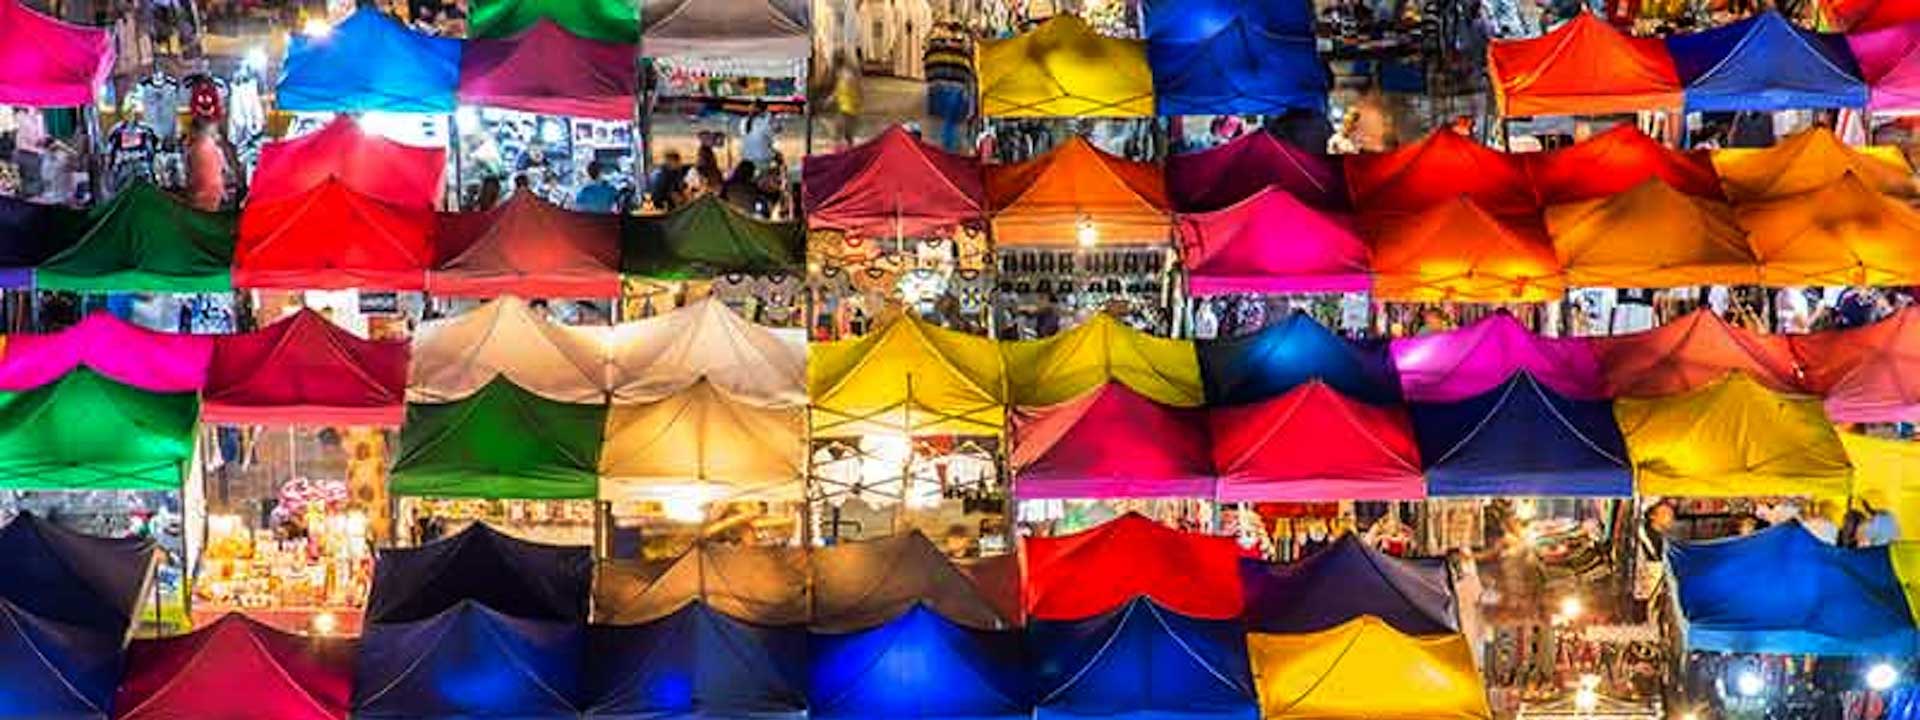
[[1158, 338], [1106, 313], [1044, 340], [1002, 342], [1012, 405], [1056, 405], [1108, 380], [1162, 405], [1198, 407], [1200, 359], [1190, 340]]

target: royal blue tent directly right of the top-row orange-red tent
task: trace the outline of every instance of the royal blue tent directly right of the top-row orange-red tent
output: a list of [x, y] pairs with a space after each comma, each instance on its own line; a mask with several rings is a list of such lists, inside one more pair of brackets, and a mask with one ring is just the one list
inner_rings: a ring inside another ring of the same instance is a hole
[[1668, 36], [1667, 50], [1693, 113], [1866, 106], [1847, 38], [1795, 27], [1774, 12]]

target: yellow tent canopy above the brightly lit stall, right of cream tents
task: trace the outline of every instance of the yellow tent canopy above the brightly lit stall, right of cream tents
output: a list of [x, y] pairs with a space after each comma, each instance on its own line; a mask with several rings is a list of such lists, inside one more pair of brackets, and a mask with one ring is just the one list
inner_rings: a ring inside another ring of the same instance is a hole
[[814, 436], [996, 436], [1006, 422], [1000, 348], [914, 315], [808, 348]]

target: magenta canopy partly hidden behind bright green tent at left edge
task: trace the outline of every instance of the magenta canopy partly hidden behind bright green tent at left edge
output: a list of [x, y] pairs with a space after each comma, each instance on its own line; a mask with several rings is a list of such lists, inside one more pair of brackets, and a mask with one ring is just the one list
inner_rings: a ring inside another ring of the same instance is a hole
[[198, 392], [207, 382], [213, 338], [156, 332], [94, 311], [48, 334], [10, 334], [0, 355], [0, 390], [35, 390], [88, 369], [148, 392]]

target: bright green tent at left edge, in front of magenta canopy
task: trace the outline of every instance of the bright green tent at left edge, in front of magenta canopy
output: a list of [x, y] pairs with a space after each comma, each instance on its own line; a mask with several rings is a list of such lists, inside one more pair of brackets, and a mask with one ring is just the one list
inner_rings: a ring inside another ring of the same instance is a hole
[[0, 488], [179, 490], [198, 419], [192, 392], [146, 392], [88, 369], [0, 392]]

